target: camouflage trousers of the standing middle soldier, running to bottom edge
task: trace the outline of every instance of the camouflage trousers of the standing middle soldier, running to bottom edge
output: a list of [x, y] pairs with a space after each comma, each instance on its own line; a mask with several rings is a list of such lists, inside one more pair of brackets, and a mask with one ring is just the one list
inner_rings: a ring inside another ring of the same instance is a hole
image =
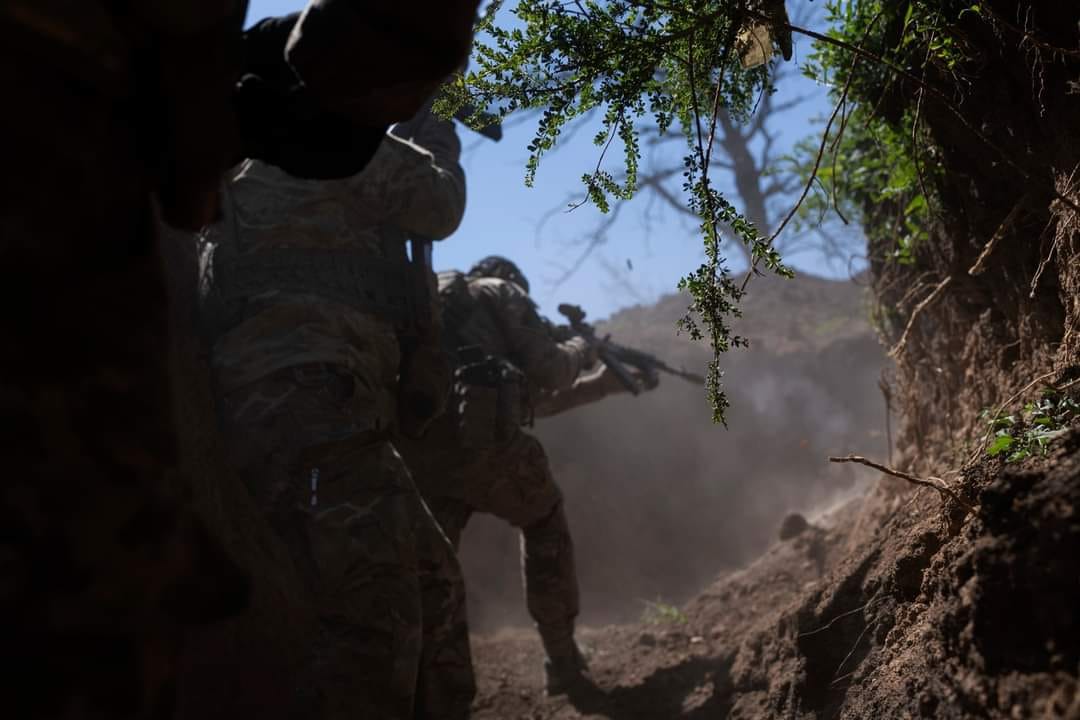
[[[375, 375], [375, 373], [373, 373]], [[318, 626], [289, 718], [469, 717], [457, 559], [375, 418], [377, 386], [300, 365], [225, 395], [230, 464], [289, 548]]]

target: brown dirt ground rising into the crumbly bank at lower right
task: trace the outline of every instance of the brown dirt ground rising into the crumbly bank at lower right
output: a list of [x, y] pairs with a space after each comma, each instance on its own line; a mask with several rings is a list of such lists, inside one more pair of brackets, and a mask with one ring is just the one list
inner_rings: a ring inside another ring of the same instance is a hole
[[1080, 719], [1080, 432], [957, 488], [975, 514], [882, 480], [680, 611], [584, 629], [571, 698], [531, 631], [478, 637], [474, 717]]

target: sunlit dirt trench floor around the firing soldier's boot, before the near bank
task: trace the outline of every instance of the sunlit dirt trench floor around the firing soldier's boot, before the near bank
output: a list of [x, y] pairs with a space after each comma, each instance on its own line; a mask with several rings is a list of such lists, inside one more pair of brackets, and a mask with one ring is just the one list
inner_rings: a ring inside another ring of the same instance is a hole
[[751, 567], [717, 580], [677, 613], [664, 608], [646, 611], [638, 624], [583, 629], [579, 637], [597, 688], [572, 702], [545, 696], [543, 652], [531, 630], [475, 638], [480, 693], [474, 717], [726, 717], [739, 642], [754, 629], [779, 623], [785, 610], [822, 583], [847, 553], [863, 504], [853, 501], [816, 519]]

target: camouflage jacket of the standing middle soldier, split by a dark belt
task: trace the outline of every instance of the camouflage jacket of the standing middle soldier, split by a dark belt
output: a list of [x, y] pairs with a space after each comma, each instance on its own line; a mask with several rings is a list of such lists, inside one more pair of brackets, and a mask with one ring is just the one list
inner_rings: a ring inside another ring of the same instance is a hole
[[[259, 161], [242, 163], [227, 193], [226, 221], [207, 237], [215, 274], [238, 259], [257, 266], [282, 249], [404, 263], [408, 235], [449, 235], [465, 203], [453, 122], [431, 118], [418, 123], [414, 139], [388, 136], [362, 173], [341, 180], [303, 180]], [[214, 345], [222, 386], [307, 363], [367, 372], [372, 313], [330, 299], [312, 285], [310, 291], [271, 290], [252, 298], [257, 300], [255, 312]]]

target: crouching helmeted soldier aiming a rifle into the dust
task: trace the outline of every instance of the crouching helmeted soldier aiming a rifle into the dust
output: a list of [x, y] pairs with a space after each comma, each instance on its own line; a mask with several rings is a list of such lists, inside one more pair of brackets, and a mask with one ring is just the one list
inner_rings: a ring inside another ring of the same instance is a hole
[[[444, 344], [454, 357], [451, 409], [403, 452], [455, 547], [473, 513], [522, 530], [525, 594], [548, 662], [550, 694], [582, 682], [575, 638], [578, 581], [563, 495], [540, 441], [522, 425], [618, 392], [596, 345], [536, 311], [518, 268], [489, 257], [468, 274], [440, 273]], [[654, 386], [654, 379], [638, 381]]]

